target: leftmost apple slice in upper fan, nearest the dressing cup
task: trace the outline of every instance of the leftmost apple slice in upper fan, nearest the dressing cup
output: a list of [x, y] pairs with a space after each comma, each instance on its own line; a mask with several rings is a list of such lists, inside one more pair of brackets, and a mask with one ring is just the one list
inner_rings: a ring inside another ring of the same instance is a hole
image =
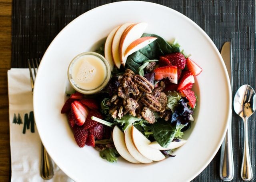
[[[120, 25], [121, 26], [121, 25]], [[112, 44], [112, 40], [114, 37], [114, 34], [116, 33], [116, 30], [120, 27], [117, 26], [116, 28], [114, 28], [109, 34], [108, 37], [106, 39], [105, 42], [105, 47], [104, 47], [104, 54], [105, 54], [105, 58], [108, 61], [108, 64], [110, 66], [110, 70], [113, 71], [114, 68], [114, 62], [112, 60], [112, 56], [111, 56], [111, 44]]]

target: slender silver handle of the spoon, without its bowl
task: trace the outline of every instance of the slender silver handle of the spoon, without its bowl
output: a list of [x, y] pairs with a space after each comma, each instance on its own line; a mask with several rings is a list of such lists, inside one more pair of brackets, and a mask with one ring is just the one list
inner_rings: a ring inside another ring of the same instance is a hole
[[250, 153], [248, 147], [248, 118], [243, 118], [244, 120], [244, 156], [241, 166], [241, 177], [244, 181], [249, 181], [252, 179], [252, 165], [250, 160]]

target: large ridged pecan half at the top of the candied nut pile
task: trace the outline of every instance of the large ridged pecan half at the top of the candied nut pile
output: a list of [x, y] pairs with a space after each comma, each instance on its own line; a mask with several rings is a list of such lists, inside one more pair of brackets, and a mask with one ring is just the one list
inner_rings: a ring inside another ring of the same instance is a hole
[[150, 83], [145, 77], [138, 74], [133, 77], [134, 83], [140, 89], [140, 91], [150, 94], [154, 89], [154, 85]]

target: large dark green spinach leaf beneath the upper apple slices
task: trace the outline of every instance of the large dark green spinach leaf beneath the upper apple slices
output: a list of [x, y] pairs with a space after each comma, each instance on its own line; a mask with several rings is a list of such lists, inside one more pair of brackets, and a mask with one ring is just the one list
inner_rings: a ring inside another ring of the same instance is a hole
[[170, 54], [172, 52], [180, 52], [180, 47], [178, 44], [169, 44], [162, 37], [155, 34], [143, 34], [142, 37], [152, 36], [157, 37], [157, 39], [145, 46], [144, 48], [134, 52], [128, 56], [126, 61], [126, 68], [131, 69], [138, 74], [138, 68], [146, 60], [158, 59], [159, 56], [164, 54]]

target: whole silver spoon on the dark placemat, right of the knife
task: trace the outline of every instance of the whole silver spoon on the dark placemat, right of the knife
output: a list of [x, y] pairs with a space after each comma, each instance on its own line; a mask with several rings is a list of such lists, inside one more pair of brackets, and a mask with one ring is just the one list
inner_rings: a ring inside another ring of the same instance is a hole
[[234, 97], [234, 110], [244, 121], [244, 156], [241, 177], [245, 181], [252, 179], [252, 166], [248, 147], [248, 118], [256, 110], [256, 94], [250, 85], [241, 86]]

